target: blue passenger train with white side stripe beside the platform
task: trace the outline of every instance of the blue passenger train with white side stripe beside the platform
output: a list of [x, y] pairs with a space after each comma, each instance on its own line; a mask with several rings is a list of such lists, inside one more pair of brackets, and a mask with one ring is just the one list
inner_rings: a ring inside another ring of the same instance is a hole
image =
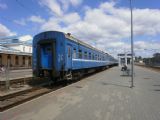
[[33, 74], [52, 80], [73, 79], [85, 73], [117, 65], [111, 55], [100, 51], [70, 33], [47, 31], [33, 39]]

